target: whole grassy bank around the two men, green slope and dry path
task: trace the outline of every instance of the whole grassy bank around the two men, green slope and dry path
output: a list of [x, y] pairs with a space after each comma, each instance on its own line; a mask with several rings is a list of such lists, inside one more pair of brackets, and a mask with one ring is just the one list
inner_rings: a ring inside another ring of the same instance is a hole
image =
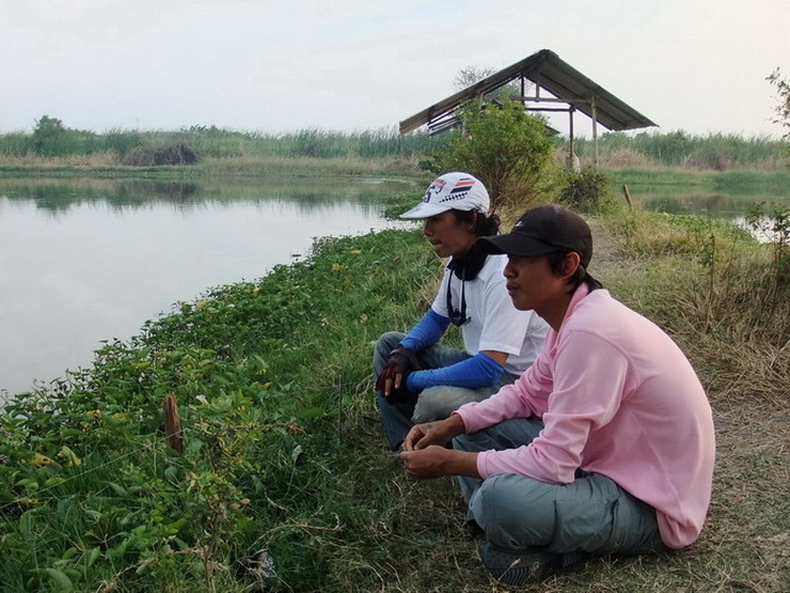
[[[709, 390], [714, 501], [688, 550], [595, 559], [524, 590], [785, 591], [790, 299], [775, 252], [688, 217], [591, 223], [591, 271], [675, 337]], [[424, 312], [440, 269], [416, 231], [322, 240], [6, 408], [0, 591], [502, 590], [452, 480], [393, 462], [371, 393], [371, 343]], [[165, 438], [168, 395], [183, 453]], [[258, 550], [268, 577], [247, 561]]]

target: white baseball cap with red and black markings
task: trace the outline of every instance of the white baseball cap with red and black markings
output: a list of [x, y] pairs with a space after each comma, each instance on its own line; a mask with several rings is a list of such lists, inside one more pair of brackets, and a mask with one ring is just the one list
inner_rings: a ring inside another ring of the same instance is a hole
[[477, 177], [454, 171], [433, 180], [425, 190], [422, 202], [400, 215], [401, 218], [429, 218], [448, 210], [488, 213], [491, 199]]

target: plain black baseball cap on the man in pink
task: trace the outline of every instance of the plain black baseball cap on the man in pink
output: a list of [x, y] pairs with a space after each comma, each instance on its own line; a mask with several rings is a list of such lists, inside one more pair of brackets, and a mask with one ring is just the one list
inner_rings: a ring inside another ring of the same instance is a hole
[[552, 251], [575, 251], [585, 268], [592, 259], [592, 233], [584, 219], [554, 204], [527, 210], [504, 235], [480, 237], [488, 253], [541, 255]]

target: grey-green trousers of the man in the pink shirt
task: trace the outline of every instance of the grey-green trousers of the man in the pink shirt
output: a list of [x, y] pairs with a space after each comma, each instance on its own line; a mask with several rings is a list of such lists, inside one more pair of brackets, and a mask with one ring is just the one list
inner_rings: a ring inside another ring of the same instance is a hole
[[[506, 420], [453, 439], [453, 448], [480, 452], [517, 448], [534, 439], [543, 424]], [[656, 511], [611, 479], [578, 470], [570, 484], [548, 484], [515, 474], [485, 480], [459, 477], [469, 519], [486, 538], [510, 549], [543, 548], [570, 554], [645, 554], [666, 550]]]

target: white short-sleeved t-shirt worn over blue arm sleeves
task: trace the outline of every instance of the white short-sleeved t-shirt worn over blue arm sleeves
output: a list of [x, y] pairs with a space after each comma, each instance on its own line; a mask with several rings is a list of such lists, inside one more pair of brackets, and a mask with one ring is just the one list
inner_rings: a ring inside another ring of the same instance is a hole
[[477, 276], [464, 282], [445, 268], [431, 308], [443, 317], [450, 317], [447, 310], [449, 282], [452, 307], [460, 310], [461, 285], [464, 284], [466, 316], [469, 318], [461, 326], [464, 349], [472, 356], [481, 350], [505, 352], [508, 354], [505, 370], [521, 375], [543, 349], [548, 324], [534, 311], [519, 311], [513, 306], [502, 274], [505, 264], [506, 255], [489, 255]]

